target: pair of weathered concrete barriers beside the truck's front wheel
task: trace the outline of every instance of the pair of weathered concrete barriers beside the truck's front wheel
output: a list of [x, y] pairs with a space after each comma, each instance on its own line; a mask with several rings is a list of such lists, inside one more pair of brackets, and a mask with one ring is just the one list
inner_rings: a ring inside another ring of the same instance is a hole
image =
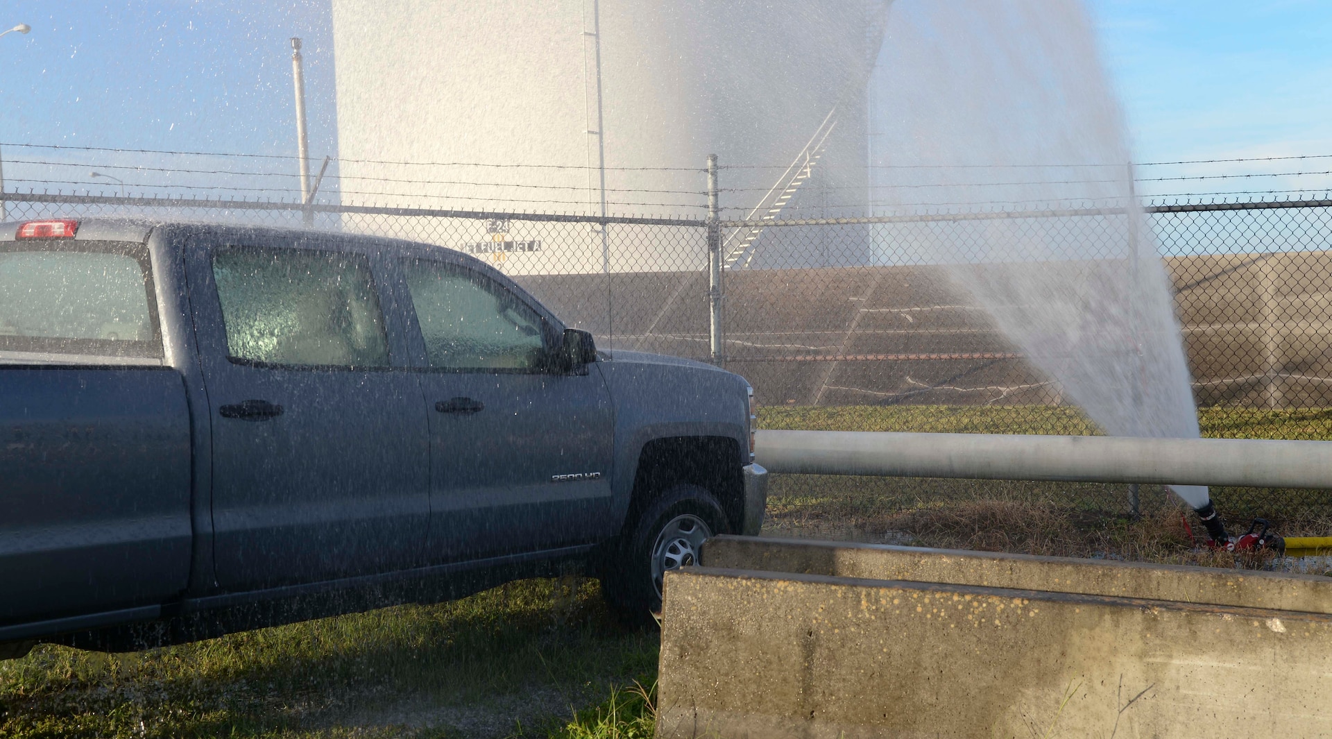
[[1332, 736], [1327, 578], [727, 537], [702, 563], [666, 577], [658, 736]]

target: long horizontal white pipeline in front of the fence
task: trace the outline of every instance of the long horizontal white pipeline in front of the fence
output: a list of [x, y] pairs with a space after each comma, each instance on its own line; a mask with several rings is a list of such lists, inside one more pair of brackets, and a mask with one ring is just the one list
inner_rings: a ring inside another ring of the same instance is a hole
[[1332, 442], [758, 431], [770, 473], [1332, 487]]

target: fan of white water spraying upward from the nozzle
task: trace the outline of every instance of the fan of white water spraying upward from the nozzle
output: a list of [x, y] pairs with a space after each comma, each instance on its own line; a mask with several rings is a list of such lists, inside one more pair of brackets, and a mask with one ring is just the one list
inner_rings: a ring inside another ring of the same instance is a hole
[[1082, 3], [899, 0], [870, 91], [876, 213], [1104, 209], [888, 225], [879, 258], [951, 265], [1106, 433], [1197, 437], [1169, 284]]

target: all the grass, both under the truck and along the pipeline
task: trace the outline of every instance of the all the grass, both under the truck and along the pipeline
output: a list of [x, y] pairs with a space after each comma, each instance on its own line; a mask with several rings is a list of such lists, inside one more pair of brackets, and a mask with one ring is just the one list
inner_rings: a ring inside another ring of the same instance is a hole
[[[1332, 410], [1204, 409], [1205, 435], [1327, 438]], [[1046, 406], [763, 407], [769, 429], [1091, 433]], [[1224, 513], [1291, 491], [1215, 489]], [[1332, 531], [1320, 491], [1287, 534]], [[1264, 497], [1265, 495], [1265, 497]], [[1221, 567], [1144, 486], [778, 475], [766, 533]], [[1267, 509], [1263, 506], [1267, 505]], [[1248, 509], [1245, 507], [1248, 506]], [[625, 631], [595, 582], [525, 581], [453, 603], [400, 606], [137, 654], [39, 646], [0, 662], [0, 736], [639, 739], [654, 730], [655, 634]]]

